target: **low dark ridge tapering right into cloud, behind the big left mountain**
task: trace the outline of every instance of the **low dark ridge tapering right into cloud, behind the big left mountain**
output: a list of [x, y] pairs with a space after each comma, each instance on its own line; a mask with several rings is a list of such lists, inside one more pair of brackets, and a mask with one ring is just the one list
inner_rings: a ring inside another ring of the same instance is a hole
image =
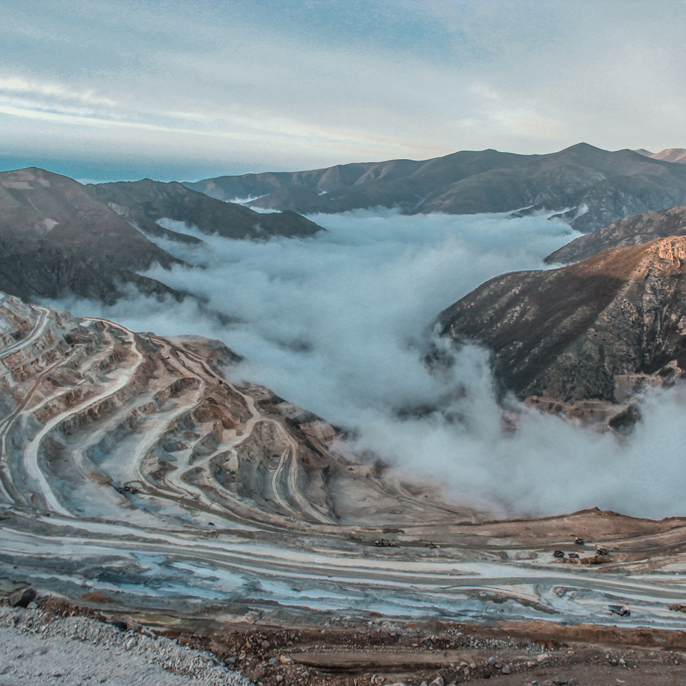
[[163, 183], [146, 178], [91, 184], [86, 189], [147, 233], [156, 233], [159, 229], [156, 222], [162, 219], [184, 222], [187, 226], [197, 226], [204, 233], [218, 233], [233, 239], [306, 237], [323, 230], [291, 211], [257, 213], [242, 205], [221, 202], [177, 182]]

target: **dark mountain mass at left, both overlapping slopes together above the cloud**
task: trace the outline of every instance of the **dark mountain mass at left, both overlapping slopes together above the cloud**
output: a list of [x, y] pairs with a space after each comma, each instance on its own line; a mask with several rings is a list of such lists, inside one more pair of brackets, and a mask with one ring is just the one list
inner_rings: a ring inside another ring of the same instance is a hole
[[[132, 285], [145, 295], [183, 294], [137, 274], [182, 265], [147, 235], [200, 239], [157, 224], [166, 217], [228, 238], [313, 235], [293, 212], [264, 215], [178, 183], [151, 180], [84, 186], [36, 167], [0, 173], [0, 289], [25, 300], [73, 294], [112, 304]], [[144, 232], [144, 233], [141, 233]]]

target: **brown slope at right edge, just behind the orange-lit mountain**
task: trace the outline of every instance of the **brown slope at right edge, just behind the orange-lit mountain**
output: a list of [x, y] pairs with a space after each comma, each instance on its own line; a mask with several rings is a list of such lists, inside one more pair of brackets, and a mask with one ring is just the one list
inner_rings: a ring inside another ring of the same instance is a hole
[[624, 217], [594, 233], [580, 236], [545, 258], [549, 264], [569, 264], [611, 248], [627, 248], [656, 238], [686, 235], [686, 205], [661, 212], [645, 212]]

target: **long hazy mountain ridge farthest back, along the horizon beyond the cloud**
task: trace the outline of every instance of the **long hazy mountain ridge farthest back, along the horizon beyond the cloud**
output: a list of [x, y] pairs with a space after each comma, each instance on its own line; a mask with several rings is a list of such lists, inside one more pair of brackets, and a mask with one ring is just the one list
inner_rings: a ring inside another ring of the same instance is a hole
[[[400, 207], [405, 213], [559, 213], [584, 232], [686, 204], [686, 167], [587, 143], [547, 155], [462, 151], [425, 161], [220, 176], [186, 187], [219, 200], [300, 213]], [[525, 208], [525, 209], [524, 209]]]

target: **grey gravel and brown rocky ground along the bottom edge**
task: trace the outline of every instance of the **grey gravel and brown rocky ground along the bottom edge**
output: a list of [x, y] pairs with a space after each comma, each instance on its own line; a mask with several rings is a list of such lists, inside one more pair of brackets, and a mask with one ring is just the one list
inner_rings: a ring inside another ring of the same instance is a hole
[[[450, 686], [491, 678], [502, 686], [686, 682], [683, 632], [377, 619], [323, 629], [217, 631], [208, 623], [161, 635], [87, 604], [36, 600], [28, 608], [9, 606], [7, 599], [0, 606], [0, 686]], [[670, 650], [674, 646], [683, 650]]]

